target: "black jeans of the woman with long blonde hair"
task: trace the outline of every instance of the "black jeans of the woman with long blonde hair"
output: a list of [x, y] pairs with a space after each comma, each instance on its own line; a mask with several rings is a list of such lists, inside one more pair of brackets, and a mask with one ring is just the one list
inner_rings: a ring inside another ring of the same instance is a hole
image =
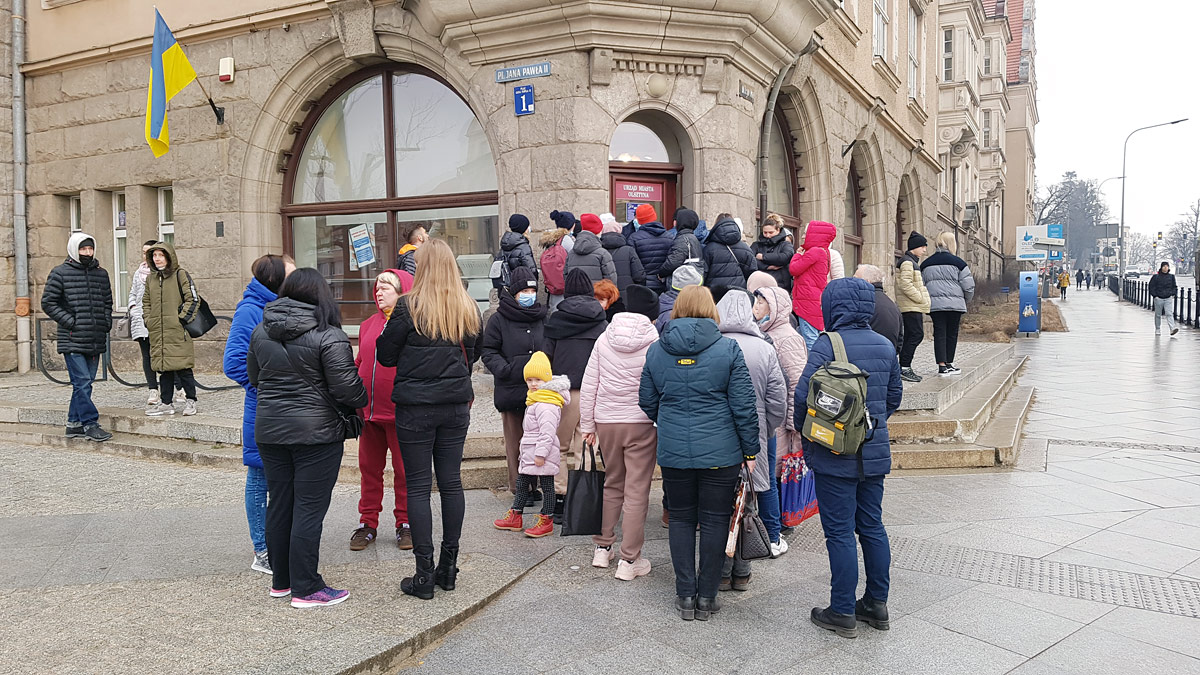
[[396, 441], [408, 483], [408, 525], [413, 554], [433, 555], [430, 491], [437, 474], [442, 498], [442, 543], [458, 546], [467, 501], [462, 494], [462, 446], [470, 426], [470, 406], [396, 406]]

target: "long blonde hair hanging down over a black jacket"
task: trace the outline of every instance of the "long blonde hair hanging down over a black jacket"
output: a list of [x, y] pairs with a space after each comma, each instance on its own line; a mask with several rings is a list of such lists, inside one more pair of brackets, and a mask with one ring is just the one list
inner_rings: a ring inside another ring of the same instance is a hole
[[416, 331], [426, 338], [461, 342], [479, 334], [479, 306], [462, 287], [454, 253], [440, 239], [416, 250], [416, 275], [406, 298]]

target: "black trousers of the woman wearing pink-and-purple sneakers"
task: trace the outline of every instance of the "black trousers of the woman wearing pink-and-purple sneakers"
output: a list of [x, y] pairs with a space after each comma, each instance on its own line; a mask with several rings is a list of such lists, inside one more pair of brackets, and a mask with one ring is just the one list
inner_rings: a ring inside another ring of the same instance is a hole
[[272, 589], [310, 596], [326, 586], [317, 572], [320, 531], [342, 468], [342, 441], [318, 446], [259, 443], [266, 474], [266, 550]]

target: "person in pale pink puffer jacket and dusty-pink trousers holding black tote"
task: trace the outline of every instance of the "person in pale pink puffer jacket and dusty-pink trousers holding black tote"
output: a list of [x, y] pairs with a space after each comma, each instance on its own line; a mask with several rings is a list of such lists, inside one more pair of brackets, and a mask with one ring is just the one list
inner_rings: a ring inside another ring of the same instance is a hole
[[594, 443], [599, 438], [605, 464], [604, 521], [600, 534], [592, 538], [596, 545], [592, 565], [606, 568], [616, 557], [613, 530], [624, 513], [616, 577], [632, 581], [650, 572], [650, 561], [642, 557], [642, 544], [658, 431], [637, 405], [637, 390], [646, 352], [659, 339], [648, 318], [658, 313], [658, 295], [635, 285], [626, 288], [625, 301], [630, 311], [613, 317], [583, 371], [580, 429], [584, 441]]

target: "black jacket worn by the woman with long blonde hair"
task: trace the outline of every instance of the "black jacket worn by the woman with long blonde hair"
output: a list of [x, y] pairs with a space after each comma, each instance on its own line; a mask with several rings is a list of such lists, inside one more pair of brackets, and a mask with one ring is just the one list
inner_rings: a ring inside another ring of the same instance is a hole
[[482, 330], [467, 335], [462, 342], [421, 335], [408, 311], [408, 298], [401, 297], [376, 341], [376, 358], [382, 365], [396, 369], [392, 402], [438, 406], [474, 401], [470, 369], [479, 360], [482, 340]]

